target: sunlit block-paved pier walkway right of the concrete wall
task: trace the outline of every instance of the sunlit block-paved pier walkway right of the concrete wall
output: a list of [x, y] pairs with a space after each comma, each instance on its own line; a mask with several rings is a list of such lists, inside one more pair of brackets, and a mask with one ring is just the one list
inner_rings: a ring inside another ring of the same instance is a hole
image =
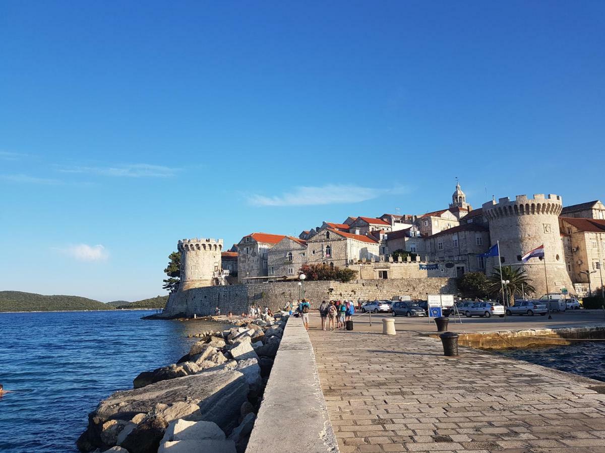
[[[400, 332], [309, 336], [339, 449], [605, 452], [597, 381]], [[601, 387], [605, 389], [605, 387]]]

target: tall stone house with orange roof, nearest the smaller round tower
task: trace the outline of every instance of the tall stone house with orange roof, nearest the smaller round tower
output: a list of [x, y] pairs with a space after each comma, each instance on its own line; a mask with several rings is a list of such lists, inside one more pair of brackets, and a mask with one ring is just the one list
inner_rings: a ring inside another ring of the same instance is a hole
[[237, 245], [238, 282], [247, 277], [266, 277], [269, 249], [284, 237], [283, 234], [252, 233], [241, 238]]

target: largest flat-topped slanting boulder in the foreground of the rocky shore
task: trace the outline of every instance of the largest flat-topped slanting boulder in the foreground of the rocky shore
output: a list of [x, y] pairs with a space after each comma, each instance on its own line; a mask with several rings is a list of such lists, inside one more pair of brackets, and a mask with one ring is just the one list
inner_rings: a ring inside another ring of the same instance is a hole
[[[248, 391], [246, 377], [234, 370], [204, 371], [155, 382], [134, 390], [118, 391], [100, 402], [96, 410], [88, 416], [88, 428], [80, 436], [77, 445], [80, 451], [110, 447], [111, 445], [104, 445], [100, 439], [103, 423], [108, 420], [131, 420], [141, 413], [163, 413], [169, 416], [171, 411], [173, 416], [178, 416], [182, 411], [191, 410], [190, 405], [197, 405], [197, 410], [185, 416], [186, 419], [214, 422], [229, 432], [237, 424], [240, 406], [247, 400]], [[133, 430], [126, 440], [135, 434], [137, 429]], [[127, 446], [125, 448], [129, 449]]]

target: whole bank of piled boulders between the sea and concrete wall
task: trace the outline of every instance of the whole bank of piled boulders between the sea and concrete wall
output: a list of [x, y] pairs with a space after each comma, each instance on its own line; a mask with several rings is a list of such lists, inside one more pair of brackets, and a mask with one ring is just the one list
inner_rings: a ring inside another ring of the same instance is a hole
[[88, 415], [82, 452], [243, 453], [286, 326], [287, 314], [223, 319], [177, 363], [143, 371]]

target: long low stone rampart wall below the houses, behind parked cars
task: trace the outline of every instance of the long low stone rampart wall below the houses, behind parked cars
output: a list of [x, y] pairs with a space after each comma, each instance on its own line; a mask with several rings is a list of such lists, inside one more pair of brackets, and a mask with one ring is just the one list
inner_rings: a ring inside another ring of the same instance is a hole
[[[221, 313], [233, 312], [240, 315], [250, 304], [269, 306], [273, 312], [280, 310], [286, 301], [300, 297], [300, 286], [296, 281], [271, 283], [234, 284], [231, 286], [206, 286], [170, 295], [165, 316], [214, 315], [218, 306]], [[356, 280], [352, 283], [339, 281], [306, 281], [305, 297], [317, 307], [322, 300], [392, 299], [396, 295], [426, 299], [427, 294], [455, 294], [454, 278], [402, 278], [392, 280]]]

